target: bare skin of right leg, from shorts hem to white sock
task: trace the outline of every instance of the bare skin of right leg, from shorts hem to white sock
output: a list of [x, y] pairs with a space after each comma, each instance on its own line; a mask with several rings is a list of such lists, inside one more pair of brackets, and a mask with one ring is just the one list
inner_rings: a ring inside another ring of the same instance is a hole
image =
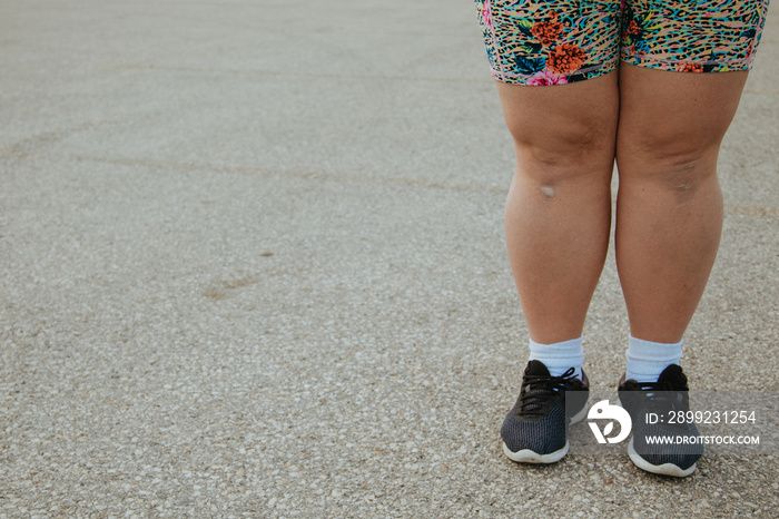
[[746, 79], [620, 69], [615, 248], [634, 337], [678, 343], [698, 306], [722, 229], [717, 156]]

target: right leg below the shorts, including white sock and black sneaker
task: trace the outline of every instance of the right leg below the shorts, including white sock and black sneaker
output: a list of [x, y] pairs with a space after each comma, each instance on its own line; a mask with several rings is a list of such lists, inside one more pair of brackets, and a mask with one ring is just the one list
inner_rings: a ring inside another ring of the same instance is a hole
[[[650, 425], [641, 413], [655, 405], [652, 399], [662, 401], [657, 388], [688, 391], [676, 364], [717, 256], [717, 155], [746, 79], [747, 72], [620, 69], [615, 248], [632, 337], [619, 393], [633, 418], [630, 459], [654, 473], [688, 476], [703, 453], [694, 424]], [[673, 402], [689, 410], [684, 399]], [[686, 441], [650, 443], [659, 435]]]

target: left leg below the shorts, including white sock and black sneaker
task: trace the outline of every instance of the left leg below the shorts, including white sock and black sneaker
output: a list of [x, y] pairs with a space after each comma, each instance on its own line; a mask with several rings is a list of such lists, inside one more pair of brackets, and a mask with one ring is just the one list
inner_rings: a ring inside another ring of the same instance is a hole
[[501, 438], [510, 459], [552, 463], [568, 452], [569, 420], [586, 413], [589, 385], [578, 368], [609, 246], [617, 72], [555, 86], [499, 84], [497, 91], [516, 150], [509, 257], [531, 340], [540, 343], [531, 343]]

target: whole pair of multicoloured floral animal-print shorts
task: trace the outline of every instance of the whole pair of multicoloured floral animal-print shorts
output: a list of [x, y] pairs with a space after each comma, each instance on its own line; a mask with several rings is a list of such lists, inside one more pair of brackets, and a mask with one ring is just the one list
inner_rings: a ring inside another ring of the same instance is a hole
[[748, 70], [769, 0], [475, 0], [495, 79], [581, 81], [619, 60], [684, 72]]

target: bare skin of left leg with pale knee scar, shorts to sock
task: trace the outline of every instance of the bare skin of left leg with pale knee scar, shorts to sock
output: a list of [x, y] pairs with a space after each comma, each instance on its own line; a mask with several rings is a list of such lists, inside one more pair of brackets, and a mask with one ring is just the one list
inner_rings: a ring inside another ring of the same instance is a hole
[[499, 82], [516, 172], [506, 244], [531, 339], [582, 334], [609, 246], [617, 72], [570, 85]]

